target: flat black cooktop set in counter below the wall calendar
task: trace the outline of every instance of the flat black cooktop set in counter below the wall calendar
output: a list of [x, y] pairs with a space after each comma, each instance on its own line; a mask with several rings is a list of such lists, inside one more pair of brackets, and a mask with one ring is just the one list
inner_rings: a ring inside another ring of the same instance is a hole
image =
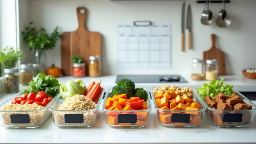
[[117, 75], [115, 83], [123, 78], [134, 83], [188, 83], [180, 75]]

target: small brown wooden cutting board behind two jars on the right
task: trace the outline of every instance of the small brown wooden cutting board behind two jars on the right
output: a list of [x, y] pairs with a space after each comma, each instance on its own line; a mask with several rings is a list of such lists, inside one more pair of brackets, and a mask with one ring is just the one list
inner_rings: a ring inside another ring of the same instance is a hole
[[225, 66], [225, 53], [217, 49], [215, 46], [215, 34], [211, 35], [212, 47], [203, 53], [204, 60], [206, 59], [217, 59], [219, 67], [219, 76], [226, 75], [226, 66]]

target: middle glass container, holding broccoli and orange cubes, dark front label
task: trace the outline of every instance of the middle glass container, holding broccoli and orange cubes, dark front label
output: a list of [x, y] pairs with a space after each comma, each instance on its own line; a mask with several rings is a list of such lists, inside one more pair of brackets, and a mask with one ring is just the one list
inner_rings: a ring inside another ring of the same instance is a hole
[[112, 88], [109, 88], [102, 105], [107, 125], [115, 128], [141, 128], [148, 124], [149, 113], [152, 110], [150, 94], [148, 91], [146, 110], [108, 110], [105, 108], [105, 103], [111, 94]]

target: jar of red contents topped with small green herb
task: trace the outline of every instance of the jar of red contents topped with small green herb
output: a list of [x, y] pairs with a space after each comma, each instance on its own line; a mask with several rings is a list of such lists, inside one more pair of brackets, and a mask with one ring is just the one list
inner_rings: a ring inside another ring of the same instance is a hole
[[79, 55], [70, 58], [73, 63], [73, 77], [85, 77], [85, 63]]

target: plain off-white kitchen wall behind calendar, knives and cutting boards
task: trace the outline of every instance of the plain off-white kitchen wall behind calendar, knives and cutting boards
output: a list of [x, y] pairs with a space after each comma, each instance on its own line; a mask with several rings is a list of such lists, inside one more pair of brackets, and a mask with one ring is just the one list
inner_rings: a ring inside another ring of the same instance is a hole
[[[211, 47], [210, 34], [215, 33], [217, 47], [226, 53], [227, 74], [242, 75], [244, 68], [256, 67], [256, 1], [232, 0], [226, 4], [232, 24], [228, 28], [218, 28], [215, 19], [222, 8], [221, 4], [211, 4], [214, 23], [211, 26], [200, 24], [204, 4], [188, 0], [191, 4], [193, 20], [193, 50], [180, 51], [181, 6], [183, 1], [110, 1], [110, 0], [23, 0], [19, 2], [20, 30], [24, 24], [33, 21], [36, 27], [44, 27], [52, 32], [56, 25], [61, 32], [74, 31], [78, 27], [76, 7], [88, 8], [87, 28], [102, 34], [103, 73], [109, 74], [190, 74], [191, 60], [202, 58], [202, 52]], [[21, 4], [22, 3], [22, 4]], [[25, 19], [25, 20], [24, 20]], [[118, 70], [116, 68], [116, 25], [120, 22], [151, 20], [172, 23], [172, 69], [170, 70]], [[23, 43], [21, 41], [21, 43]], [[22, 44], [21, 44], [22, 45]], [[187, 43], [186, 43], [187, 45]], [[22, 49], [27, 49], [23, 44]], [[29, 51], [28, 51], [29, 53]], [[60, 42], [47, 52], [48, 62], [60, 66]], [[29, 60], [23, 60], [29, 61]]]

